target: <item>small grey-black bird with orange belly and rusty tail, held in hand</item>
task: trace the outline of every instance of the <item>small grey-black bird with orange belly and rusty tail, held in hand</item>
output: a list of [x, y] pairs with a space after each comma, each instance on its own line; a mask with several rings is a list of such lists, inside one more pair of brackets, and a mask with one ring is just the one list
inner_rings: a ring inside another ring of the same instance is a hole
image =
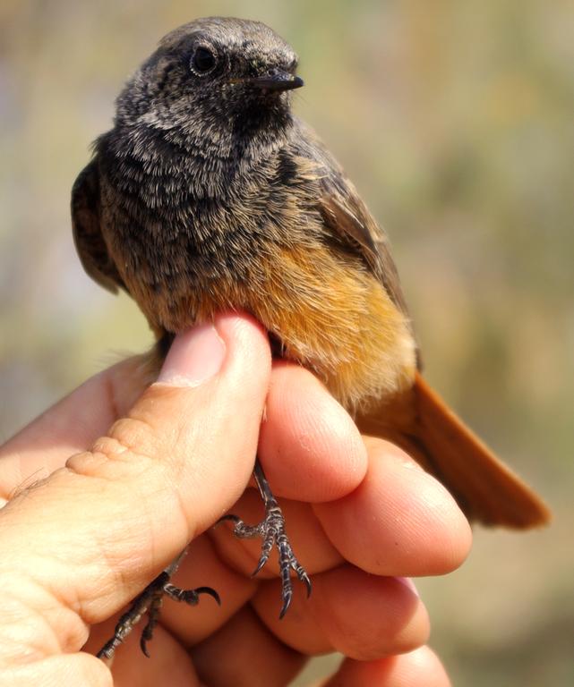
[[[157, 336], [158, 368], [174, 336], [219, 310], [245, 310], [276, 356], [313, 370], [359, 428], [402, 446], [450, 489], [471, 520], [528, 528], [544, 504], [427, 386], [389, 243], [314, 132], [291, 113], [303, 86], [293, 49], [264, 24], [212, 17], [167, 34], [126, 83], [110, 131], [94, 144], [72, 193], [83, 267], [124, 289]], [[294, 555], [270, 486], [238, 537], [278, 547], [283, 606]], [[174, 562], [151, 582], [100, 651], [109, 657], [141, 615], [146, 651]], [[256, 571], [256, 572], [257, 572]]]

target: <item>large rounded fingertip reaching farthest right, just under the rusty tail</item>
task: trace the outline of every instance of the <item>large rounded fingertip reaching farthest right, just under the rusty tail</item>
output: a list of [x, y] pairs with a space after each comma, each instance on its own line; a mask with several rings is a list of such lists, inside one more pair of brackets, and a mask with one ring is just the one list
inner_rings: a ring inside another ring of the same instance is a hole
[[378, 575], [449, 573], [465, 560], [467, 519], [441, 483], [396, 446], [372, 439], [360, 487], [338, 501], [313, 505], [343, 557]]

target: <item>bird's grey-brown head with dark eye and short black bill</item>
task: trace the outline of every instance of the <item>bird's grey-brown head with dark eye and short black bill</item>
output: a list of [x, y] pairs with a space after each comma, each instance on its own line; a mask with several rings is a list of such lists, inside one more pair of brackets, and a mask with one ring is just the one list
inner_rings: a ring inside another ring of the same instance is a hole
[[225, 155], [285, 130], [290, 91], [303, 86], [296, 66], [293, 49], [265, 24], [192, 21], [162, 38], [128, 81], [116, 123], [153, 127]]

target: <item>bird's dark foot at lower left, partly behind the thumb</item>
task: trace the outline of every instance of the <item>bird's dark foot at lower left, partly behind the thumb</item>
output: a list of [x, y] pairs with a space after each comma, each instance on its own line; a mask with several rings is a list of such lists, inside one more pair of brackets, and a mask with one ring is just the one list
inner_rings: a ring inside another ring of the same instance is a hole
[[121, 616], [116, 624], [114, 636], [99, 649], [99, 658], [111, 658], [114, 656], [116, 649], [122, 644], [125, 638], [137, 623], [140, 622], [141, 616], [147, 612], [148, 622], [141, 632], [140, 647], [141, 651], [149, 657], [148, 642], [153, 637], [153, 630], [159, 620], [159, 611], [164, 595], [173, 598], [176, 601], [184, 601], [190, 606], [197, 606], [199, 603], [200, 594], [209, 594], [210, 597], [215, 598], [218, 604], [221, 603], [219, 595], [215, 589], [210, 587], [198, 587], [197, 589], [179, 589], [170, 583], [174, 573], [176, 573], [179, 564], [182, 562], [187, 549], [184, 549], [177, 558], [167, 566], [165, 570], [158, 574], [158, 577], [141, 592], [139, 596], [133, 599], [132, 606]]

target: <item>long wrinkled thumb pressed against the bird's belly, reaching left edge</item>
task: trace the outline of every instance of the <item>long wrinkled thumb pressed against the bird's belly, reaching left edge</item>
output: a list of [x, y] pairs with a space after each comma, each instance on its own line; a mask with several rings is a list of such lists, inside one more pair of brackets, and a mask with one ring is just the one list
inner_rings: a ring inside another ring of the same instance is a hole
[[162, 384], [92, 452], [0, 513], [3, 589], [13, 605], [42, 609], [49, 649], [81, 646], [81, 618], [95, 623], [124, 606], [243, 491], [269, 344], [249, 318], [222, 316], [216, 327], [217, 335], [200, 327], [176, 339]]

